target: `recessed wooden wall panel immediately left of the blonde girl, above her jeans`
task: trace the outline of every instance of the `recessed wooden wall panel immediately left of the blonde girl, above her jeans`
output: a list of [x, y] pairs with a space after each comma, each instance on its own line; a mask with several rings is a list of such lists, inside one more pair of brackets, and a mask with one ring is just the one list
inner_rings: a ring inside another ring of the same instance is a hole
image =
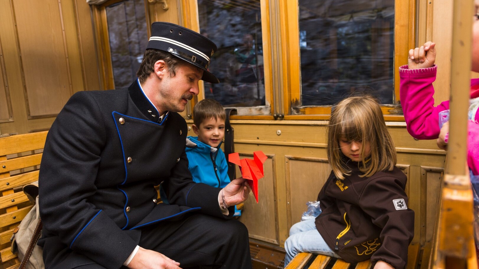
[[[301, 221], [306, 203], [316, 201], [319, 191], [331, 173], [327, 159], [286, 156], [286, 184], [290, 218], [288, 229]], [[296, 195], [294, 195], [296, 194]]]

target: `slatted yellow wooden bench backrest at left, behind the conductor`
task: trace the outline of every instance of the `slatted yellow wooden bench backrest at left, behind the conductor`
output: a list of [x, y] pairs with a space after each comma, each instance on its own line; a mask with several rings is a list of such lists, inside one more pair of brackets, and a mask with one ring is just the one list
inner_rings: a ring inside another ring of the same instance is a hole
[[16, 268], [10, 238], [32, 208], [23, 194], [25, 184], [38, 180], [47, 131], [0, 138], [0, 268]]

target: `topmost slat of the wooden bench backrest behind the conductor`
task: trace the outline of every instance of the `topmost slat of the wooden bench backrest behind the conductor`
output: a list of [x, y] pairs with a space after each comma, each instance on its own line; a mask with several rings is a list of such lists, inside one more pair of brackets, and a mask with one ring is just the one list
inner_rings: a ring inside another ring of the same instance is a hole
[[48, 131], [0, 138], [0, 156], [43, 149]]

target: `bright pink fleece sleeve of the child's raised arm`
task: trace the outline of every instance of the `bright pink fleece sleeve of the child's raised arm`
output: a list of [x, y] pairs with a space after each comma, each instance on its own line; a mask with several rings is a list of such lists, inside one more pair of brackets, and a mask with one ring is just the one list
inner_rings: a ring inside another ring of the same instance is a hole
[[433, 82], [437, 66], [408, 69], [399, 67], [399, 95], [409, 134], [416, 139], [436, 139], [439, 136], [439, 112], [449, 109], [449, 101], [434, 107]]

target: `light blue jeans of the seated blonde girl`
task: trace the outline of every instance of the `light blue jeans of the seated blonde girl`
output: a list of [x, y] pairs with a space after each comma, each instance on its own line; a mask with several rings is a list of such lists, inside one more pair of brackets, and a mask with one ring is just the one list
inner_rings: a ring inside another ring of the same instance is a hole
[[328, 247], [328, 244], [324, 242], [323, 237], [321, 237], [316, 229], [314, 221], [314, 218], [303, 220], [293, 225], [289, 230], [289, 237], [285, 241], [285, 266], [299, 252], [310, 252], [340, 258]]

